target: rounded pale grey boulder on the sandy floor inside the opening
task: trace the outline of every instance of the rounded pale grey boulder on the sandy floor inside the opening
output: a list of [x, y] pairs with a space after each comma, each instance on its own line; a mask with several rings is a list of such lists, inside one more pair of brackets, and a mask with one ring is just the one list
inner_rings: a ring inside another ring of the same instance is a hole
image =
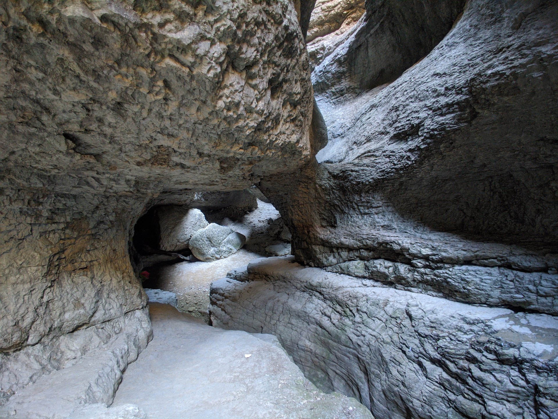
[[243, 234], [224, 225], [209, 224], [190, 239], [190, 250], [200, 261], [211, 262], [234, 254], [246, 243]]

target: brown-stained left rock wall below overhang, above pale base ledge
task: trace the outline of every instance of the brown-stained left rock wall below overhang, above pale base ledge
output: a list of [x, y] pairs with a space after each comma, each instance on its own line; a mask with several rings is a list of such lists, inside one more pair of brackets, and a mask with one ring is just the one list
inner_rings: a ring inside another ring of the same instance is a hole
[[134, 200], [46, 188], [1, 199], [2, 352], [145, 307], [127, 252]]

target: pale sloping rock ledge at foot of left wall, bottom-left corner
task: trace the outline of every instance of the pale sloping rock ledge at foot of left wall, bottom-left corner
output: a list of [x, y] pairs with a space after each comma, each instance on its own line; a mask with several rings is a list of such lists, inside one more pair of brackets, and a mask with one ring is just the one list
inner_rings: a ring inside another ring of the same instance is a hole
[[[123, 370], [146, 348], [149, 339], [151, 322], [147, 309], [143, 309], [2, 355], [2, 388], [8, 387], [12, 393], [15, 389], [15, 394], [0, 407], [0, 417], [61, 419], [73, 417], [74, 411], [81, 412], [82, 416], [76, 413], [76, 417], [83, 417], [84, 404], [111, 404]], [[92, 413], [93, 408], [86, 410]], [[110, 412], [120, 412], [94, 410], [107, 418]]]

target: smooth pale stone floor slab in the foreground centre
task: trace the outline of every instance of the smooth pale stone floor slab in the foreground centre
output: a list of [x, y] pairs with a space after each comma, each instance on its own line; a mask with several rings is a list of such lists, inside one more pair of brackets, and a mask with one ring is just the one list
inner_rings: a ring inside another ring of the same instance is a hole
[[373, 419], [355, 399], [319, 391], [275, 336], [212, 328], [169, 305], [150, 303], [150, 315], [153, 340], [114, 404], [148, 419]]

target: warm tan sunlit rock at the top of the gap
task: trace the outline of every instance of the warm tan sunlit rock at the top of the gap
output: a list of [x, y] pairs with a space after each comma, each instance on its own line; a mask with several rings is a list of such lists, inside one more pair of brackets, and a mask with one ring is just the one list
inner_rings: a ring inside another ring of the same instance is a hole
[[343, 44], [363, 14], [364, 0], [316, 1], [306, 36], [312, 70]]

